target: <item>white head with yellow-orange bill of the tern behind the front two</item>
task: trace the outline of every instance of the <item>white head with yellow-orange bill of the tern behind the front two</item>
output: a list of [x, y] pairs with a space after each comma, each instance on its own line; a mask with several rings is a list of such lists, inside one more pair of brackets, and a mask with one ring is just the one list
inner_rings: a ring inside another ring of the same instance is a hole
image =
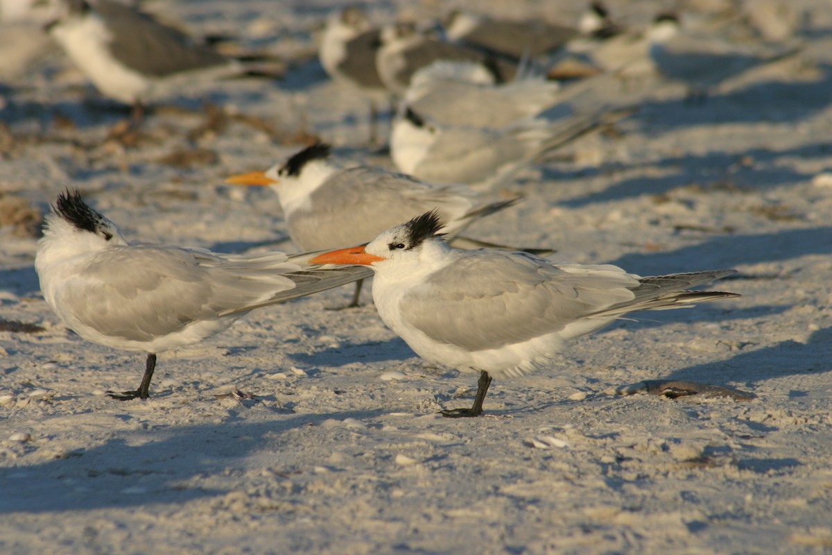
[[266, 171], [252, 171], [225, 180], [232, 185], [270, 186], [280, 199], [283, 210], [290, 212], [303, 206], [310, 194], [338, 171], [329, 157], [330, 147], [316, 142]]

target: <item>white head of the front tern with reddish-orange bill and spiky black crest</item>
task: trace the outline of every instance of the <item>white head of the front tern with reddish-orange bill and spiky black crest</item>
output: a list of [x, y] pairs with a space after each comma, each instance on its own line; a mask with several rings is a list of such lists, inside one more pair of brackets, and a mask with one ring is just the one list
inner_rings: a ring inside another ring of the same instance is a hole
[[377, 273], [408, 279], [436, 270], [432, 264], [451, 249], [445, 243], [436, 211], [383, 231], [367, 245], [331, 250], [310, 260], [312, 264], [369, 265]]

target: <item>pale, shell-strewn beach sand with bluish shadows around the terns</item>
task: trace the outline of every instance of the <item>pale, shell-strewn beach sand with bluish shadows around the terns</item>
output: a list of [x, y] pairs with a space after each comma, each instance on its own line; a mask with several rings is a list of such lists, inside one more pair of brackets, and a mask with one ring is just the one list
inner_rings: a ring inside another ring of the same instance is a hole
[[[156, 7], [292, 57], [310, 52], [330, 2], [288, 3]], [[399, 3], [417, 15], [438, 6]], [[627, 22], [656, 7], [610, 3]], [[743, 296], [582, 339], [549, 371], [495, 380], [483, 418], [437, 414], [469, 405], [476, 376], [418, 359], [369, 295], [359, 310], [323, 310], [347, 288], [163, 353], [151, 399], [108, 399], [138, 384], [143, 355], [60, 324], [38, 290], [36, 240], [3, 226], [0, 319], [45, 330], [0, 331], [0, 553], [828, 553], [832, 13], [820, 0], [794, 6], [808, 13], [803, 52], [702, 106], [655, 77], [592, 88], [583, 102], [626, 94], [642, 110], [524, 172], [509, 189], [527, 201], [469, 234], [641, 275], [733, 267], [740, 279], [715, 287]], [[175, 101], [263, 118], [283, 145], [236, 120], [189, 142], [205, 116], [171, 111], [151, 116], [137, 146], [104, 141], [121, 115], [57, 52], [0, 91], [13, 136], [0, 130], [0, 192], [45, 211], [78, 187], [128, 239], [215, 250], [292, 248], [270, 191], [225, 176], [295, 150], [303, 126], [357, 156], [367, 136], [361, 97], [316, 62], [284, 82], [207, 84]], [[159, 161], [193, 148], [215, 163]], [[615, 394], [650, 379], [755, 399]]]

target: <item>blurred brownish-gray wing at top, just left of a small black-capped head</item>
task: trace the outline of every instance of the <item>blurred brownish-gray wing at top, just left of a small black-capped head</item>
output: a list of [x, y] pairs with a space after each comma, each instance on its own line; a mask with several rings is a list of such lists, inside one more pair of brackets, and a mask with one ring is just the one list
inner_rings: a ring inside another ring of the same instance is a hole
[[537, 57], [577, 37], [577, 29], [545, 22], [487, 20], [462, 37], [463, 42], [516, 59]]

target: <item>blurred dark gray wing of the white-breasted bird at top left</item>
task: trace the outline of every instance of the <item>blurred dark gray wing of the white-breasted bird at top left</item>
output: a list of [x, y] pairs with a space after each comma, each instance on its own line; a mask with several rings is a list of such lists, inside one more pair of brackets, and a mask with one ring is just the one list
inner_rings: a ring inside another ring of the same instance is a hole
[[229, 63], [209, 47], [193, 42], [185, 33], [121, 2], [99, 0], [94, 9], [111, 32], [112, 55], [136, 72], [165, 77]]

